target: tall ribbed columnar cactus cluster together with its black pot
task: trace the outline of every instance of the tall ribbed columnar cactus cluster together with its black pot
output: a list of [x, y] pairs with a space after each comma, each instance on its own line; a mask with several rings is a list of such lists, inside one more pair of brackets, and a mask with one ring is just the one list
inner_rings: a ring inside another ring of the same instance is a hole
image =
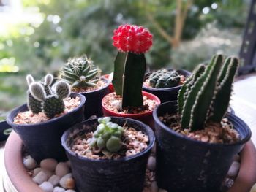
[[233, 156], [251, 137], [243, 120], [226, 113], [237, 58], [214, 55], [178, 93], [154, 111], [157, 183], [167, 191], [220, 191]]

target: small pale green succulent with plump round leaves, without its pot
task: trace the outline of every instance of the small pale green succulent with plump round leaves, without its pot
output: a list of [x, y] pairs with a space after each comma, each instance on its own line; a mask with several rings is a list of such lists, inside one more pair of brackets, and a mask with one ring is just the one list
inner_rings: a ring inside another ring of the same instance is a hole
[[112, 123], [111, 118], [99, 118], [100, 123], [94, 131], [94, 137], [91, 139], [91, 147], [99, 147], [100, 150], [108, 150], [110, 153], [116, 153], [121, 149], [121, 136], [124, 134], [124, 128]]

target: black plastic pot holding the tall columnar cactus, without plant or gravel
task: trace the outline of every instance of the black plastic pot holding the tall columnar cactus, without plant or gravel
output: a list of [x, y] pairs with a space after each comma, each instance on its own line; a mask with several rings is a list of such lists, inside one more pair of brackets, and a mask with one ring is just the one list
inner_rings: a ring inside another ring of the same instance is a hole
[[220, 191], [233, 156], [251, 137], [251, 131], [243, 120], [227, 115], [241, 140], [235, 144], [212, 144], [196, 141], [178, 134], [165, 126], [159, 116], [176, 113], [174, 101], [160, 104], [153, 112], [157, 139], [157, 184], [159, 188], [175, 192]]

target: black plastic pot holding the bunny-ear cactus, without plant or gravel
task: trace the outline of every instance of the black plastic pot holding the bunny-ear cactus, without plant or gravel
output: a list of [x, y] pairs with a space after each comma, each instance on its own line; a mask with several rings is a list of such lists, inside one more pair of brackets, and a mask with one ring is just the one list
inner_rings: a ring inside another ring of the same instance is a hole
[[83, 106], [86, 101], [85, 97], [78, 93], [71, 93], [72, 98], [78, 96], [80, 104], [71, 112], [53, 118], [43, 123], [35, 124], [15, 124], [13, 119], [18, 112], [28, 110], [26, 104], [12, 110], [7, 116], [7, 123], [12, 126], [29, 152], [37, 162], [44, 158], [55, 158], [58, 161], [67, 159], [64, 148], [61, 146], [61, 135], [71, 126], [83, 121]]

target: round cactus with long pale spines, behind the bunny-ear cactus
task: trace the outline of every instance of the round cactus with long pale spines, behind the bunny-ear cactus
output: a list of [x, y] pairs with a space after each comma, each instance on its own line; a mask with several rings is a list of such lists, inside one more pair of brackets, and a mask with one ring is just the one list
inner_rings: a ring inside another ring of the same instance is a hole
[[67, 80], [72, 88], [88, 88], [97, 85], [100, 70], [86, 55], [79, 58], [69, 58], [67, 64], [60, 70], [59, 77]]

